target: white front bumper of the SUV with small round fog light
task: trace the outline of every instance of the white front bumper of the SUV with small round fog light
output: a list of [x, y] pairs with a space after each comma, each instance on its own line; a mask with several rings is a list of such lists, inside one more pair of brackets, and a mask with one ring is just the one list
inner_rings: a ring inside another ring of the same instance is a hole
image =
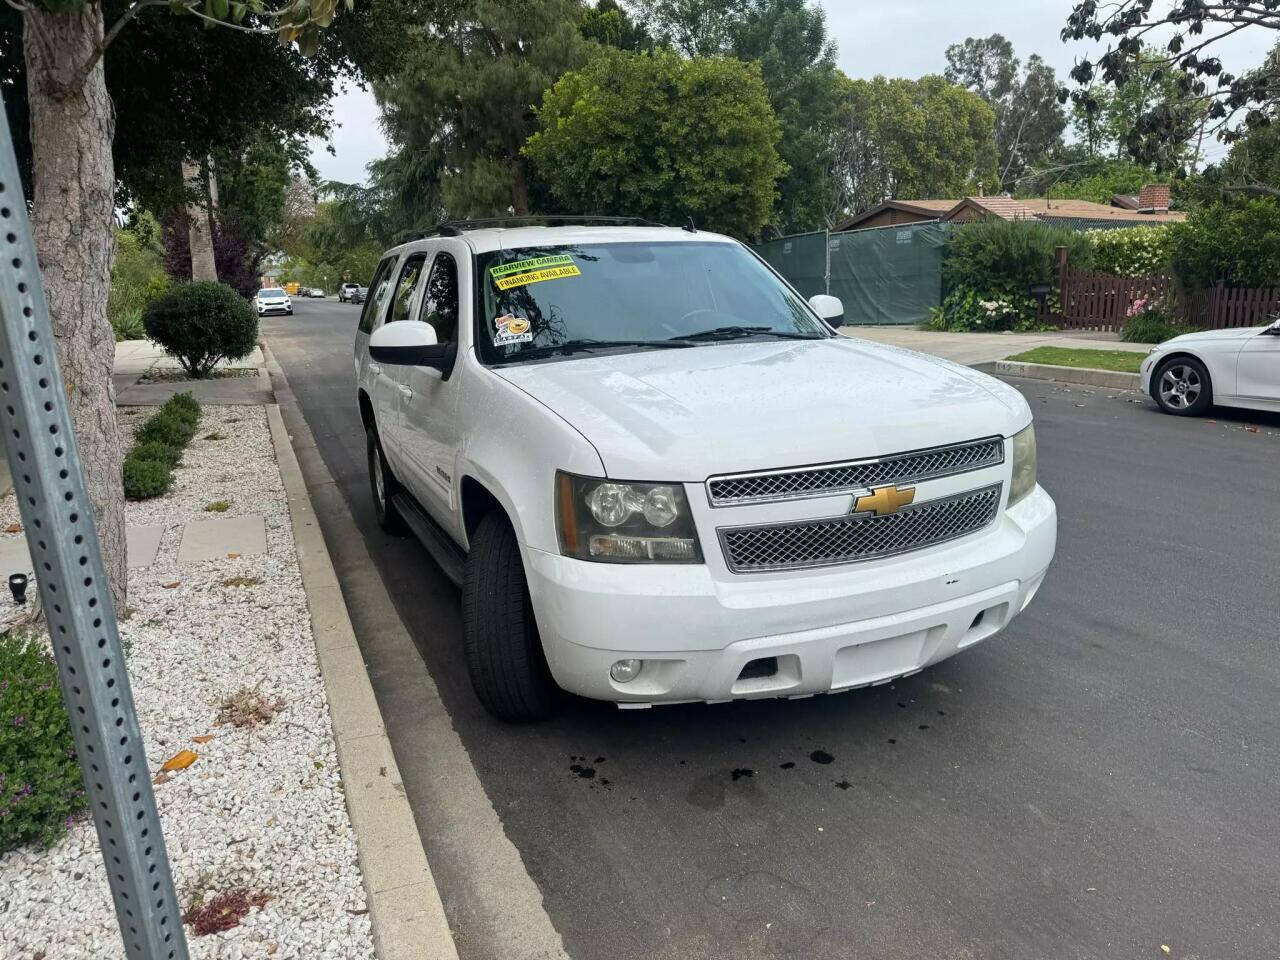
[[[547, 660], [563, 689], [622, 705], [809, 696], [915, 673], [1021, 612], [1057, 541], [1039, 486], [987, 530], [886, 561], [794, 575], [616, 566], [529, 550]], [[620, 659], [643, 659], [627, 684]], [[764, 660], [762, 669], [744, 667]], [[768, 672], [772, 667], [772, 672]]]

